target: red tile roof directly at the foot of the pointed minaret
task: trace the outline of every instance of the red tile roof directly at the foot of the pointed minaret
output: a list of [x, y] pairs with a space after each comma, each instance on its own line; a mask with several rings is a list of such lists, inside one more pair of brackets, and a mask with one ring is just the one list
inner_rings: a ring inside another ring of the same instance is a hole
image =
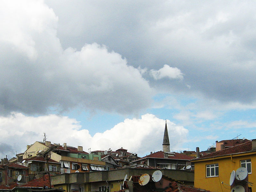
[[152, 153], [145, 157], [141, 157], [140, 159], [137, 159], [135, 161], [138, 161], [138, 160], [141, 160], [144, 158], [163, 158], [163, 159], [182, 159], [182, 160], [190, 160], [190, 159], [194, 158], [194, 157], [191, 157], [191, 156], [188, 156], [185, 154], [181, 154], [181, 153], [176, 153], [176, 152], [170, 153], [168, 155], [168, 158], [166, 158], [166, 157], [164, 157], [164, 153], [165, 153], [164, 151], [157, 151], [156, 153]]

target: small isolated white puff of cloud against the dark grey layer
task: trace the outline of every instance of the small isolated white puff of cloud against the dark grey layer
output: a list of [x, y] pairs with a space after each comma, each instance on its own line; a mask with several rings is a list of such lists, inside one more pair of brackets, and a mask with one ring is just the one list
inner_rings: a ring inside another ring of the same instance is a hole
[[164, 77], [170, 78], [170, 79], [183, 79], [183, 74], [181, 73], [180, 69], [178, 68], [172, 68], [169, 65], [164, 65], [163, 68], [159, 70], [150, 70], [151, 75], [154, 77], [154, 79], [162, 79]]

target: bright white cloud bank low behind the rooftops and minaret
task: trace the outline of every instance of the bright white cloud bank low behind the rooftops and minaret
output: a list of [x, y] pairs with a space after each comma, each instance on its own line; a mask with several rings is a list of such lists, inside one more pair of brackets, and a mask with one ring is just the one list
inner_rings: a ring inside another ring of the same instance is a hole
[[[52, 143], [67, 143], [70, 146], [83, 146], [84, 151], [101, 150], [111, 148], [125, 148], [130, 152], [136, 152], [140, 156], [149, 154], [150, 151], [162, 150], [165, 120], [155, 115], [145, 114], [140, 119], [125, 119], [116, 124], [112, 129], [94, 136], [83, 129], [76, 119], [67, 116], [25, 116], [21, 113], [12, 113], [10, 116], [0, 117], [1, 140], [0, 155], [12, 157], [17, 153], [24, 152], [26, 145], [35, 141], [43, 141], [44, 132], [46, 138]], [[186, 140], [188, 130], [177, 126], [167, 120], [170, 139], [170, 148], [178, 150]], [[15, 140], [13, 140], [15, 138]], [[12, 140], [12, 142], [10, 142]], [[7, 150], [8, 149], [8, 150]]]

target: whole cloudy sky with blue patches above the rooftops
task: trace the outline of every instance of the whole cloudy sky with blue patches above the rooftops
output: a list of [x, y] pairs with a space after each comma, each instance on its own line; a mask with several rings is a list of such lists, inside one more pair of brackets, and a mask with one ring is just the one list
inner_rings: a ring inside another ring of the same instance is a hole
[[0, 156], [256, 139], [254, 1], [0, 2]]

